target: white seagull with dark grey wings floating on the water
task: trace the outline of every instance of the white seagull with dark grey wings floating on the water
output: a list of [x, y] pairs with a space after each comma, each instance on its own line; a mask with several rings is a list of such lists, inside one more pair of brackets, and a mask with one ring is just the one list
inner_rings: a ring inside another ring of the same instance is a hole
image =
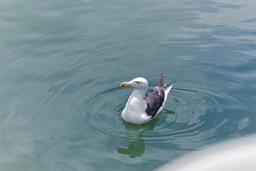
[[148, 81], [142, 77], [121, 83], [121, 87], [132, 86], [134, 88], [122, 111], [122, 119], [133, 124], [144, 124], [152, 120], [163, 110], [168, 92], [172, 88], [171, 84], [175, 81], [164, 85], [164, 77], [161, 72], [157, 87], [148, 92]]

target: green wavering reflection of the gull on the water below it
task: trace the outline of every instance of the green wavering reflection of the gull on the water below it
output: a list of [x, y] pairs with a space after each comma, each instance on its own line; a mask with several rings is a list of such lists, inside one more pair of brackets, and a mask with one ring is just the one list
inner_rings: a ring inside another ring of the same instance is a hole
[[[157, 121], [157, 120], [156, 120]], [[126, 137], [130, 138], [130, 144], [126, 145], [128, 148], [118, 148], [117, 152], [128, 155], [131, 158], [142, 156], [145, 153], [145, 142], [143, 138], [144, 130], [154, 129], [155, 122], [148, 122], [143, 125], [135, 125], [124, 122], [124, 129]]]

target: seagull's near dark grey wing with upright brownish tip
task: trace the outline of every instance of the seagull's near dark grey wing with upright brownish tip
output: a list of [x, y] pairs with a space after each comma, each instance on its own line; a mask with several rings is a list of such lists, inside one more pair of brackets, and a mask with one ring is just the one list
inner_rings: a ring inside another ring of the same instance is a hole
[[162, 73], [160, 73], [158, 77], [157, 85], [157, 89], [150, 90], [144, 96], [144, 101], [147, 103], [147, 108], [145, 112], [146, 114], [148, 114], [148, 116], [151, 116], [151, 118], [156, 116], [156, 113], [158, 112], [159, 108], [164, 103], [164, 79]]

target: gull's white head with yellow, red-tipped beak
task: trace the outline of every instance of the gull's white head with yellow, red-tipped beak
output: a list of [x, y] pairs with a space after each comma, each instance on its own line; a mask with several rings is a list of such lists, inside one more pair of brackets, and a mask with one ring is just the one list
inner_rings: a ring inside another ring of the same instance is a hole
[[132, 81], [129, 82], [124, 82], [120, 84], [120, 86], [132, 86], [135, 89], [142, 89], [142, 90], [147, 90], [148, 89], [148, 81], [142, 77], [138, 77], [133, 79]]

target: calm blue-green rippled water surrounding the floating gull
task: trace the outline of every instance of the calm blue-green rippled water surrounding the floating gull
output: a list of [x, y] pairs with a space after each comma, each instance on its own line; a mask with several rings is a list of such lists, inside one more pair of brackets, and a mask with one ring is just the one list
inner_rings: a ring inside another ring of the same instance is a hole
[[[132, 88], [178, 79], [123, 123]], [[256, 133], [255, 0], [1, 0], [1, 171], [152, 171]]]

